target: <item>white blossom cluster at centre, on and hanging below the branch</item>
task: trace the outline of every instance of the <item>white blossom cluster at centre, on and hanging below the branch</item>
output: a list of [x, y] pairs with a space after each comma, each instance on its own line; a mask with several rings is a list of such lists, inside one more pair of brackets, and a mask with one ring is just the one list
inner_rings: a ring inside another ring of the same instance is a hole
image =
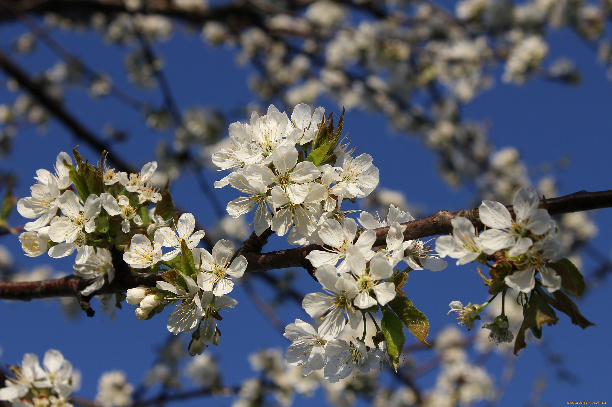
[[[390, 312], [389, 301], [403, 294], [400, 290], [403, 283], [397, 283], [401, 273], [399, 269], [394, 272], [394, 267], [401, 261], [408, 265], [407, 270], [439, 271], [446, 267], [446, 262], [431, 253], [431, 247], [422, 240], [404, 240], [406, 225], [401, 223], [410, 220], [413, 218], [408, 212], [391, 205], [386, 220], [382, 221], [362, 212], [359, 223], [367, 229], [357, 239], [357, 222], [351, 218], [330, 219], [319, 228], [318, 238], [326, 250], [313, 250], [307, 258], [317, 267], [315, 275], [323, 292], [307, 294], [302, 301], [318, 329], [299, 319], [285, 328], [285, 337], [293, 342], [286, 359], [289, 364], [301, 366], [302, 375], [323, 369], [324, 378], [335, 383], [389, 362], [386, 340], [390, 333], [381, 330], [373, 313], [379, 308]], [[376, 239], [373, 229], [387, 225], [390, 226], [387, 244], [371, 250]], [[363, 325], [365, 330], [367, 314], [377, 328], [378, 336], [373, 338], [376, 347], [365, 345], [365, 331], [362, 337], [353, 337], [349, 342], [338, 339], [345, 327]], [[391, 357], [397, 359], [398, 355]]]

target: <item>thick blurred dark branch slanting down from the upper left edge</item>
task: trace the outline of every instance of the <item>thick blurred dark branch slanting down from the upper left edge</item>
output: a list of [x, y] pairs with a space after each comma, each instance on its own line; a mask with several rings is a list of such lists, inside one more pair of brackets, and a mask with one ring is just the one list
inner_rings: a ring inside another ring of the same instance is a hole
[[77, 139], [83, 140], [83, 142], [87, 143], [87, 145], [96, 149], [97, 151], [107, 151], [108, 159], [117, 166], [118, 170], [127, 171], [129, 173], [136, 172], [132, 165], [121, 159], [119, 154], [116, 154], [109, 144], [100, 141], [95, 134], [84, 126], [83, 123], [73, 117], [73, 115], [71, 115], [64, 108], [64, 106], [62, 106], [60, 101], [57, 101], [47, 95], [45, 90], [39, 85], [35, 84], [34, 81], [30, 79], [29, 74], [21, 69], [17, 63], [13, 62], [1, 49], [0, 68], [9, 76], [13, 77], [21, 87], [26, 88], [26, 90], [28, 90], [28, 92], [34, 96], [34, 98], [37, 99], [42, 106], [45, 107], [45, 109], [49, 110], [49, 112], [58, 118], [58, 120], [61, 121], [61, 123], [64, 124], [64, 126], [68, 128]]

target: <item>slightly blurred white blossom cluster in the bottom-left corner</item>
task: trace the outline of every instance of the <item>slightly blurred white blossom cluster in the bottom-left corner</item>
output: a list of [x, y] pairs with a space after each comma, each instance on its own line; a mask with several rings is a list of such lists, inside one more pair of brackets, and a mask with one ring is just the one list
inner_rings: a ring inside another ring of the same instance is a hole
[[34, 353], [23, 355], [21, 366], [10, 366], [12, 378], [4, 381], [0, 400], [14, 407], [72, 407], [70, 394], [80, 387], [80, 373], [59, 350], [50, 349], [40, 366]]

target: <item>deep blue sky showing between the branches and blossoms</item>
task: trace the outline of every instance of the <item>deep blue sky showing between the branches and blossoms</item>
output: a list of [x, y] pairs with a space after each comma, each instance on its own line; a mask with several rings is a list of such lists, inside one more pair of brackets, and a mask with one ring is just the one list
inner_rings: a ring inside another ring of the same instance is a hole
[[[10, 40], [23, 32], [18, 25], [0, 27], [0, 46], [7, 49]], [[121, 88], [129, 88], [122, 62], [125, 48], [108, 46], [99, 36], [91, 33], [74, 35], [54, 32], [54, 38], [71, 51], [82, 57], [97, 70], [106, 71]], [[197, 35], [176, 34], [170, 41], [156, 45], [165, 59], [165, 71], [180, 107], [194, 105], [217, 106], [225, 112], [234, 110], [253, 99], [246, 84], [249, 67], [237, 67], [234, 63], [236, 52], [231, 49], [210, 49], [203, 45]], [[554, 176], [561, 185], [560, 193], [578, 190], [610, 189], [609, 175], [612, 162], [610, 151], [612, 141], [612, 87], [605, 77], [605, 69], [595, 61], [591, 49], [584, 46], [567, 31], [551, 35], [551, 56], [547, 63], [559, 56], [573, 59], [583, 73], [583, 82], [578, 87], [569, 87], [542, 80], [529, 82], [523, 87], [501, 82], [501, 71], [496, 71], [496, 85], [492, 90], [478, 96], [463, 110], [466, 118], [490, 120], [490, 137], [497, 148], [516, 146], [529, 165], [534, 179], [542, 176], [540, 164], [555, 162], [567, 156], [570, 164]], [[21, 57], [19, 62], [31, 72], [50, 67], [57, 59], [39, 44], [37, 52]], [[140, 98], [160, 100], [157, 90], [135, 92]], [[0, 89], [0, 103], [13, 100], [15, 94]], [[340, 110], [329, 100], [322, 100], [324, 107]], [[138, 113], [125, 109], [111, 98], [92, 101], [81, 89], [69, 90], [67, 108], [97, 134], [102, 134], [106, 123], [130, 131], [128, 142], [117, 143], [115, 148], [124, 158], [137, 165], [154, 159], [155, 145], [160, 139], [171, 140], [171, 134], [157, 134], [142, 126]], [[247, 117], [231, 117], [232, 120], [246, 121]], [[426, 208], [427, 214], [438, 209], [449, 211], [468, 207], [471, 203], [469, 189], [451, 189], [436, 174], [436, 158], [416, 138], [406, 137], [391, 131], [386, 120], [380, 115], [353, 110], [346, 114], [345, 131], [357, 145], [357, 153], [367, 152], [374, 158], [381, 173], [381, 187], [400, 189], [411, 203]], [[28, 187], [37, 168], [51, 168], [59, 151], [70, 151], [78, 140], [65, 131], [56, 121], [51, 121], [45, 134], [34, 129], [20, 132], [14, 140], [13, 153], [0, 163], [2, 170], [13, 170], [19, 177], [20, 196], [28, 195]], [[81, 146], [83, 155], [89, 154], [97, 160], [97, 154]], [[217, 174], [209, 173], [210, 180]], [[211, 207], [190, 176], [186, 175], [173, 185], [174, 200], [193, 212], [204, 225], [215, 222]], [[222, 202], [231, 198], [231, 191], [220, 192]], [[599, 236], [593, 245], [602, 253], [610, 254], [612, 243], [612, 220], [610, 209], [595, 214]], [[12, 218], [14, 225], [23, 223], [20, 217]], [[69, 273], [68, 259], [51, 261], [47, 256], [27, 258], [15, 237], [3, 237], [0, 243], [12, 250], [19, 267], [50, 264], [58, 272]], [[282, 240], [273, 241], [271, 248], [282, 247]], [[585, 256], [583, 273], [588, 276], [596, 264]], [[431, 333], [452, 323], [446, 316], [448, 303], [452, 300], [483, 301], [487, 293], [480, 284], [475, 266], [449, 267], [438, 273], [412, 273], [406, 286], [408, 297], [429, 317]], [[305, 276], [297, 281], [305, 293], [319, 289], [318, 283]], [[544, 361], [539, 347], [530, 345], [522, 351], [517, 361], [517, 375], [510, 383], [501, 405], [523, 405], [531, 394], [536, 378], [548, 375], [548, 384], [542, 402], [548, 405], [562, 405], [571, 400], [609, 400], [609, 366], [612, 361], [608, 344], [612, 334], [612, 323], [608, 315], [606, 283], [579, 301], [583, 314], [596, 323], [596, 327], [583, 331], [571, 325], [565, 315], [557, 326], [544, 328], [544, 339], [548, 346], [564, 355], [564, 366], [580, 377], [578, 383], [568, 384], [558, 380], [554, 367]], [[244, 290], [234, 290], [233, 296], [239, 301], [237, 308], [226, 317], [221, 325], [223, 337], [220, 347], [209, 348], [212, 355], [220, 359], [223, 375], [228, 384], [236, 384], [252, 376], [246, 356], [263, 347], [287, 346], [261, 314], [254, 310]], [[95, 308], [95, 305], [94, 305]], [[58, 348], [74, 366], [83, 372], [82, 397], [93, 397], [97, 378], [102, 372], [121, 369], [133, 383], [138, 383], [146, 368], [151, 364], [154, 350], [167, 337], [166, 319], [162, 315], [147, 322], [135, 319], [132, 307], [124, 304], [118, 317], [111, 325], [98, 312], [94, 318], [80, 315], [67, 320], [60, 312], [57, 301], [34, 300], [30, 302], [0, 302], [0, 346], [4, 353], [2, 362], [20, 361], [23, 353], [34, 352], [39, 356], [48, 348]], [[278, 314], [284, 322], [294, 318], [305, 318], [301, 308], [287, 304]], [[408, 340], [408, 343], [411, 339]], [[419, 356], [421, 357], [421, 356]], [[492, 356], [486, 366], [499, 378], [503, 359]], [[430, 387], [435, 381], [435, 372], [420, 378], [422, 387]], [[322, 401], [319, 396], [315, 400]], [[296, 400], [296, 405], [307, 405], [311, 400]], [[228, 405], [227, 400], [220, 401]], [[195, 405], [195, 403], [192, 403]]]

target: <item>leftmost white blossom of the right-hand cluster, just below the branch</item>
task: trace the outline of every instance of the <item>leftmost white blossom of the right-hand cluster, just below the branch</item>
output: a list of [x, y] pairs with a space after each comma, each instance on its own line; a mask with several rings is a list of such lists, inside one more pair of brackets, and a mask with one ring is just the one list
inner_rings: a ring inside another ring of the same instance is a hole
[[450, 223], [453, 225], [452, 236], [440, 236], [436, 239], [436, 251], [440, 257], [458, 259], [457, 265], [476, 260], [482, 253], [482, 245], [472, 222], [458, 216], [450, 220]]

